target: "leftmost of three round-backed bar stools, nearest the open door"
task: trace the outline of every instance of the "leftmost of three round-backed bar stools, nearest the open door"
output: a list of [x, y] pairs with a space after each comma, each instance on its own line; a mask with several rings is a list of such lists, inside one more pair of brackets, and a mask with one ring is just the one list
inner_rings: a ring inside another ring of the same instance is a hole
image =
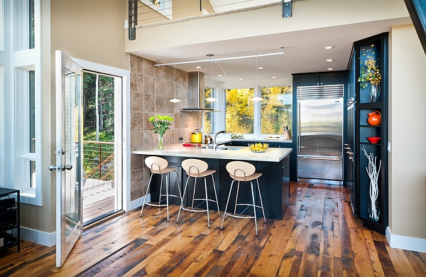
[[[143, 212], [143, 207], [145, 205], [150, 205], [154, 207], [167, 207], [167, 221], [169, 221], [169, 204], [168, 204], [168, 198], [169, 197], [179, 197], [180, 202], [182, 203], [182, 193], [180, 193], [180, 185], [179, 185], [179, 178], [178, 178], [178, 168], [172, 168], [168, 167], [168, 161], [164, 158], [151, 156], [145, 159], [145, 164], [150, 168], [151, 170], [151, 176], [148, 181], [148, 188], [146, 188], [145, 193], [145, 199], [143, 200], [142, 209], [141, 209], [141, 217]], [[168, 191], [170, 188], [169, 180], [168, 180], [168, 173], [174, 171], [176, 173], [176, 180], [178, 180], [178, 189], [179, 189], [179, 195], [169, 195]], [[151, 180], [153, 178], [154, 174], [160, 174], [161, 175], [161, 182], [160, 182], [160, 196], [158, 197], [158, 202], [156, 204], [154, 203], [148, 203], [146, 202], [146, 196], [148, 195], [148, 190], [150, 188]], [[165, 194], [161, 193], [161, 190], [163, 188], [163, 175], [165, 175]], [[161, 200], [161, 197], [165, 197], [165, 199]], [[162, 201], [165, 200], [165, 204], [161, 204]]]

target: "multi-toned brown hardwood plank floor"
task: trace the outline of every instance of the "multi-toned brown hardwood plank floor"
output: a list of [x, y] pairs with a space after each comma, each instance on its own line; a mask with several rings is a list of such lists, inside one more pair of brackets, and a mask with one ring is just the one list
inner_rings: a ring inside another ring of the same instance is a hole
[[62, 268], [55, 246], [0, 253], [0, 276], [426, 276], [426, 254], [388, 246], [351, 215], [346, 188], [292, 183], [283, 220], [147, 206], [85, 231]]

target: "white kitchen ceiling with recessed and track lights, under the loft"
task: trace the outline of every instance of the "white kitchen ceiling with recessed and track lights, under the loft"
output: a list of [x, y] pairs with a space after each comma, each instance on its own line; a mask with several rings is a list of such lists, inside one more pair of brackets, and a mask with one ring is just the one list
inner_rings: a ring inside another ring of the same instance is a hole
[[[165, 64], [206, 60], [208, 59], [207, 54], [214, 54], [213, 58], [227, 58], [278, 53], [283, 47], [284, 55], [259, 57], [258, 67], [264, 67], [264, 69], [257, 70], [258, 82], [271, 80], [273, 76], [276, 76], [277, 80], [282, 80], [291, 78], [292, 73], [323, 72], [328, 68], [346, 70], [354, 41], [388, 32], [391, 30], [391, 26], [406, 23], [410, 23], [409, 18], [398, 18], [212, 43], [155, 48], [136, 51], [133, 54], [154, 61], [159, 60], [160, 64]], [[332, 45], [334, 48], [324, 50], [323, 47], [327, 45]], [[327, 59], [333, 59], [333, 61], [326, 62]], [[208, 85], [212, 75], [211, 63], [176, 65], [178, 69], [187, 72], [196, 71], [196, 66], [202, 67], [199, 70], [205, 73], [206, 85]], [[224, 76], [217, 77], [219, 74]], [[214, 82], [239, 82], [239, 78], [243, 78], [245, 81], [251, 80], [251, 82], [256, 80], [256, 58], [223, 60], [214, 63]]]

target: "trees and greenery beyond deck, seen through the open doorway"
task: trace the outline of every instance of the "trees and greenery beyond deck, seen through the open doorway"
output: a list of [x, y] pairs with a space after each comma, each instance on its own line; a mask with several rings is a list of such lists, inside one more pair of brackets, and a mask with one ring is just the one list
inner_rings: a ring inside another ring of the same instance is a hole
[[[98, 97], [96, 87], [98, 83]], [[96, 109], [98, 107], [98, 109]], [[114, 143], [114, 77], [84, 72], [83, 74], [83, 141], [104, 141]], [[114, 144], [83, 143], [84, 175], [94, 171], [89, 178], [114, 180], [114, 158], [102, 165], [99, 176], [99, 163], [114, 154]], [[100, 153], [100, 156], [99, 156]]]

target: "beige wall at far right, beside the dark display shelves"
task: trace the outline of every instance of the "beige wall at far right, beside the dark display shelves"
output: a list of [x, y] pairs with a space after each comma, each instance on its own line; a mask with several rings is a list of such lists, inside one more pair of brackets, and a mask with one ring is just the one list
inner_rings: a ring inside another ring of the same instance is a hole
[[426, 55], [413, 26], [390, 36], [389, 227], [426, 239]]

